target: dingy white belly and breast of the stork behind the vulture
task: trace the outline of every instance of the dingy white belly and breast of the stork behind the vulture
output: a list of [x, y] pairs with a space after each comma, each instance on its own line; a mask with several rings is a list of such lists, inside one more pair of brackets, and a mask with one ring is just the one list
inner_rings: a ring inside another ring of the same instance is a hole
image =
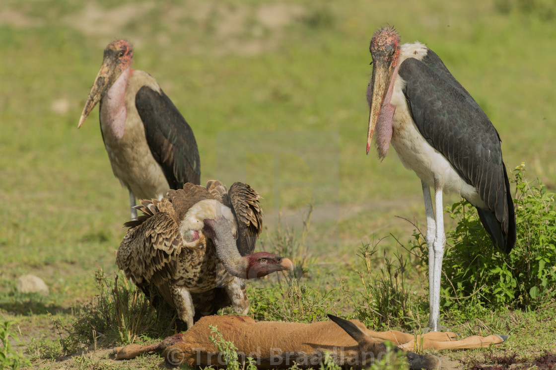
[[[108, 117], [111, 116], [110, 110], [113, 108], [110, 95], [112, 92], [117, 95], [117, 89], [123, 88], [118, 84], [118, 82], [121, 82], [120, 78], [108, 91], [106, 100], [105, 98], [102, 100], [101, 130], [112, 171], [120, 180], [122, 186], [130, 189], [138, 199], [160, 199], [166, 195], [170, 185], [168, 185], [162, 167], [152, 156], [145, 137], [143, 122], [135, 108], [135, 95], [142, 86], [139, 83], [142, 81], [137, 81], [140, 79], [136, 77], [136, 72], [141, 71], [135, 71], [127, 83], [123, 135], [115, 132], [113, 127], [108, 124], [110, 122]], [[144, 72], [142, 74], [147, 75]], [[139, 74], [139, 76], [143, 77], [142, 74]], [[152, 77], [150, 78], [152, 80]], [[116, 101], [116, 99], [114, 100]], [[121, 136], [121, 138], [118, 136]]]

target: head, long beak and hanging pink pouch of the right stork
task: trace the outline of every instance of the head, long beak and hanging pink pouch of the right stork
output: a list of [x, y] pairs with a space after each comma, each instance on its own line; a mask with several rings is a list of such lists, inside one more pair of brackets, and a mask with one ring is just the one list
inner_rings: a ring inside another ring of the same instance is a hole
[[373, 58], [373, 77], [367, 89], [369, 103], [369, 131], [367, 134], [367, 154], [377, 123], [381, 130], [377, 147], [379, 156], [383, 157], [388, 151], [391, 137], [391, 120], [394, 117], [394, 107], [389, 105], [394, 87], [400, 58], [400, 36], [393, 27], [384, 27], [373, 34], [369, 47]]

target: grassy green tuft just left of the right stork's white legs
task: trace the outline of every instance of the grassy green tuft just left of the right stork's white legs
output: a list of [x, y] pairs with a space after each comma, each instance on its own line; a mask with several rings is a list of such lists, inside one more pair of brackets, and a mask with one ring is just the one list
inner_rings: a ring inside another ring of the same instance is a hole
[[[392, 261], [383, 254], [379, 261], [375, 255], [377, 245], [363, 245], [359, 257], [365, 263], [365, 270], [358, 271], [363, 285], [363, 304], [356, 304], [355, 315], [366, 325], [373, 328], [408, 326], [415, 324], [412, 301], [408, 287], [408, 258], [395, 254]], [[381, 265], [379, 272], [375, 267]]]

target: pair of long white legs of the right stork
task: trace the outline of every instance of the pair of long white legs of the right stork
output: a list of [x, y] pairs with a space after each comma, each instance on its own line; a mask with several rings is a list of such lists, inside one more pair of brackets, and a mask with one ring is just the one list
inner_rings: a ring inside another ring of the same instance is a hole
[[[444, 214], [442, 209], [442, 186], [434, 186], [434, 211], [436, 219], [436, 230], [433, 242], [434, 265], [433, 265], [433, 286], [429, 287], [429, 298], [431, 312], [429, 327], [433, 332], [439, 330], [440, 322], [440, 277], [442, 274], [442, 259], [444, 258], [444, 246], [446, 235], [444, 234]], [[430, 273], [430, 246], [429, 246], [429, 273]], [[429, 276], [430, 280], [430, 276]]]

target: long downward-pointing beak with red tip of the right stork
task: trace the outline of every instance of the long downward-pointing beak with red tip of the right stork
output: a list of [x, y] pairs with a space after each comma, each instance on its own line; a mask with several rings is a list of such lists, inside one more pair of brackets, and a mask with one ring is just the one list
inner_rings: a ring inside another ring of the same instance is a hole
[[367, 92], [372, 92], [369, 100], [369, 131], [367, 132], [367, 154], [371, 147], [371, 140], [375, 134], [376, 122], [379, 120], [380, 110], [385, 102], [385, 97], [391, 87], [392, 76], [394, 74], [394, 66], [389, 58], [373, 58], [373, 78]]

